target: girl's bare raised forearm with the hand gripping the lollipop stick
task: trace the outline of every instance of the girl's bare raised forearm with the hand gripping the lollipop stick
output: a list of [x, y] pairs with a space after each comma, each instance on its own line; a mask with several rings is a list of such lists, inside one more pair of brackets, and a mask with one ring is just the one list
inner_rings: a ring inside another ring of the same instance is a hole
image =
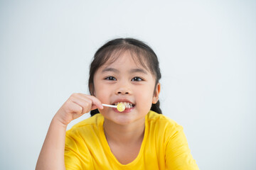
[[103, 108], [94, 96], [72, 94], [53, 117], [38, 157], [36, 170], [65, 169], [65, 131], [72, 120], [95, 108]]

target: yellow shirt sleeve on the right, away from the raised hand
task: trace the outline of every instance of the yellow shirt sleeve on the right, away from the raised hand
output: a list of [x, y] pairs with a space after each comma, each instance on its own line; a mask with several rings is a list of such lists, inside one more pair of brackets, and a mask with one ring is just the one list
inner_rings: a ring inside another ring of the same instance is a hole
[[196, 161], [188, 148], [188, 142], [183, 127], [177, 125], [166, 145], [166, 169], [197, 170]]

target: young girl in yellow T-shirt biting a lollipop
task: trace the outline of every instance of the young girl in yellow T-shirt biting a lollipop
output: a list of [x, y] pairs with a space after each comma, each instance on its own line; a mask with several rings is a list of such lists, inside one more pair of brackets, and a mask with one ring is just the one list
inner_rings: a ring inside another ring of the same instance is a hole
[[161, 114], [160, 78], [156, 54], [144, 42], [119, 38], [100, 47], [90, 65], [90, 95], [72, 94], [55, 114], [36, 169], [198, 169], [182, 126]]

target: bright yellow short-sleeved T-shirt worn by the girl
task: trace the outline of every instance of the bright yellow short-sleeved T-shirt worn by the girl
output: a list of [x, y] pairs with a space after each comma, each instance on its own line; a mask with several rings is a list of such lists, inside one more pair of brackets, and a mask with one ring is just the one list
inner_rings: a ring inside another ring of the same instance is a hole
[[65, 167], [70, 169], [198, 169], [183, 128], [164, 115], [149, 111], [139, 154], [120, 164], [107, 143], [104, 117], [96, 114], [66, 132]]

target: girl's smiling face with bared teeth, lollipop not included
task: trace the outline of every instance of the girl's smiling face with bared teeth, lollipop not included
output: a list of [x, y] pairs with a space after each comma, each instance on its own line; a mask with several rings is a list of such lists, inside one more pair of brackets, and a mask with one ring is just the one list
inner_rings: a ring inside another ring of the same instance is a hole
[[103, 64], [95, 72], [93, 81], [94, 95], [102, 103], [129, 103], [123, 112], [109, 107], [99, 110], [112, 123], [128, 125], [139, 120], [144, 121], [151, 104], [158, 101], [160, 84], [154, 89], [154, 75], [139, 62], [134, 62], [129, 52], [124, 52], [112, 63]]

